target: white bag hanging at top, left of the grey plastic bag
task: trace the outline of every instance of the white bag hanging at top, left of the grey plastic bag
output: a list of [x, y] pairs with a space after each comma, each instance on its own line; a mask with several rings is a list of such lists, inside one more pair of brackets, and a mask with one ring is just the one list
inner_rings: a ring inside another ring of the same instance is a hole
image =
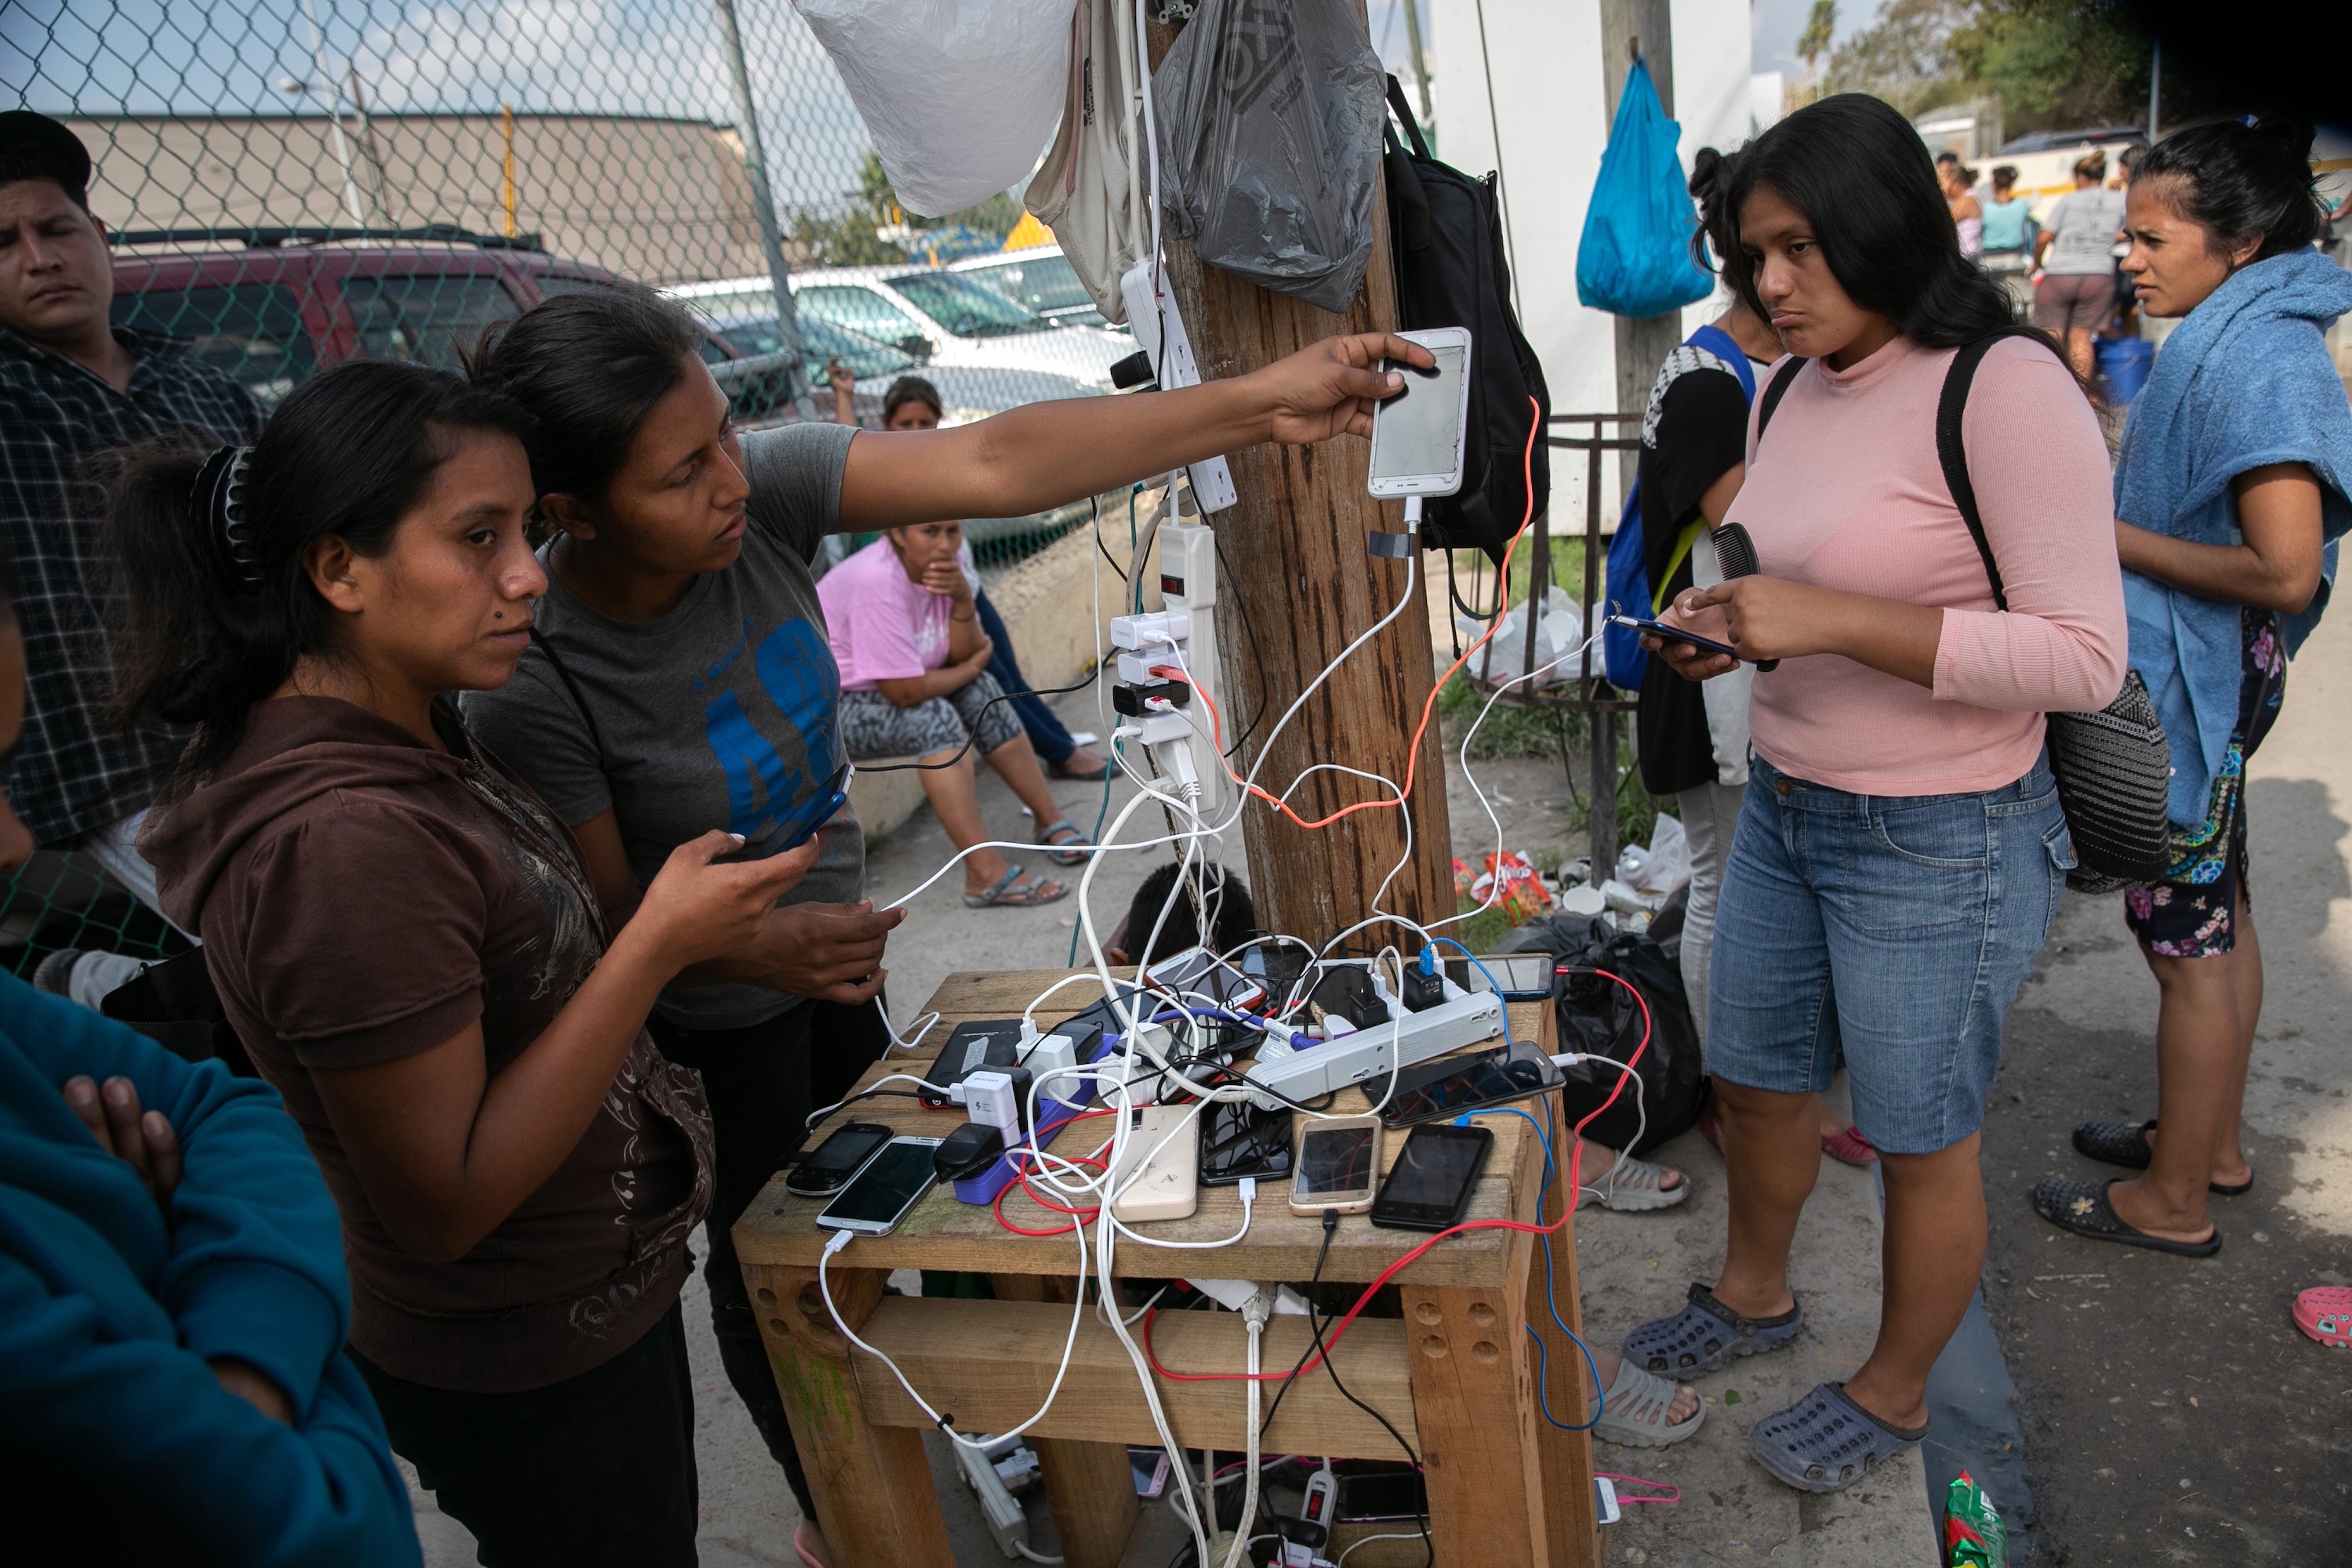
[[898, 205], [943, 219], [1011, 190], [1054, 136], [1070, 0], [793, 0], [866, 118]]

